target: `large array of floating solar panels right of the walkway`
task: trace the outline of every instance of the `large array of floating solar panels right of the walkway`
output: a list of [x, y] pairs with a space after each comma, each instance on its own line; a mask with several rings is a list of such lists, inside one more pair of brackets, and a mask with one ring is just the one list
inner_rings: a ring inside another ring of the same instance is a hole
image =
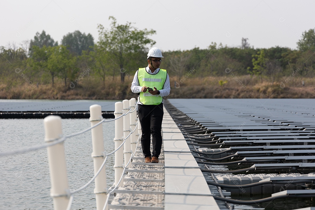
[[[315, 171], [315, 99], [169, 99], [251, 167]], [[215, 146], [215, 144], [213, 144]], [[255, 163], [252, 160], [266, 160]], [[269, 163], [267, 160], [279, 160]], [[248, 161], [248, 163], [247, 163]], [[248, 166], [247, 166], [248, 167]], [[288, 171], [286, 171], [288, 172]]]

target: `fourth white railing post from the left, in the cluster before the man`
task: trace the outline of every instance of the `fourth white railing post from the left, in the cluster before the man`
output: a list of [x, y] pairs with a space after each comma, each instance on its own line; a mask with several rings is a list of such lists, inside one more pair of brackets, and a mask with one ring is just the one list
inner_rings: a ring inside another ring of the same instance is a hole
[[[129, 100], [123, 100], [123, 111], [127, 113], [130, 110], [129, 108]], [[130, 146], [130, 136], [127, 136], [130, 133], [130, 114], [123, 116], [123, 138], [126, 140], [123, 144], [123, 154], [124, 154], [124, 163], [125, 167], [130, 167], [131, 162], [127, 165], [130, 157], [131, 157], [131, 146]]]

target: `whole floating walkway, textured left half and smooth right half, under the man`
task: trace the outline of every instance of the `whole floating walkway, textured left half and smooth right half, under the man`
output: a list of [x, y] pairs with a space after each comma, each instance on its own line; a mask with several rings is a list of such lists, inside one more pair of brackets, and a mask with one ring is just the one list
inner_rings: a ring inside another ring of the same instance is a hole
[[213, 209], [220, 207], [176, 123], [164, 108], [159, 163], [145, 163], [141, 146], [114, 191], [109, 209]]

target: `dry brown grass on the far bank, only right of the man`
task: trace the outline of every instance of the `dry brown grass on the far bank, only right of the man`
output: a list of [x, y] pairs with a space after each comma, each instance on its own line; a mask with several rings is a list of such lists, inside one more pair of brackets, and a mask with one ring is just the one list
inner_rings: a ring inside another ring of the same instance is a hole
[[[221, 86], [220, 80], [226, 83]], [[175, 82], [175, 78], [171, 78], [171, 84]], [[288, 80], [285, 77], [271, 84], [248, 75], [229, 75], [186, 78], [184, 81], [177, 81], [176, 87], [172, 89], [169, 98], [315, 98], [315, 80], [312, 78], [296, 77]]]

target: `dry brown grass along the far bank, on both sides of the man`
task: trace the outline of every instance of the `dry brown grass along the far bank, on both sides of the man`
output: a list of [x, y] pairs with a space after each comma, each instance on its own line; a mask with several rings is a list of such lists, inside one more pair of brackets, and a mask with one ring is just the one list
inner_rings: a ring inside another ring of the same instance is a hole
[[[132, 79], [132, 78], [131, 78]], [[105, 84], [99, 79], [84, 78], [74, 88], [65, 87], [63, 81], [51, 84], [20, 83], [0, 84], [1, 99], [129, 99], [137, 97], [130, 90], [131, 79], [108, 78]], [[226, 82], [220, 85], [219, 81]], [[302, 86], [304, 81], [305, 86]], [[188, 77], [178, 81], [170, 78], [171, 93], [168, 98], [315, 98], [315, 80], [294, 77], [278, 79], [278, 82], [261, 82], [250, 76], [236, 77]], [[72, 85], [73, 87], [73, 85]]]

